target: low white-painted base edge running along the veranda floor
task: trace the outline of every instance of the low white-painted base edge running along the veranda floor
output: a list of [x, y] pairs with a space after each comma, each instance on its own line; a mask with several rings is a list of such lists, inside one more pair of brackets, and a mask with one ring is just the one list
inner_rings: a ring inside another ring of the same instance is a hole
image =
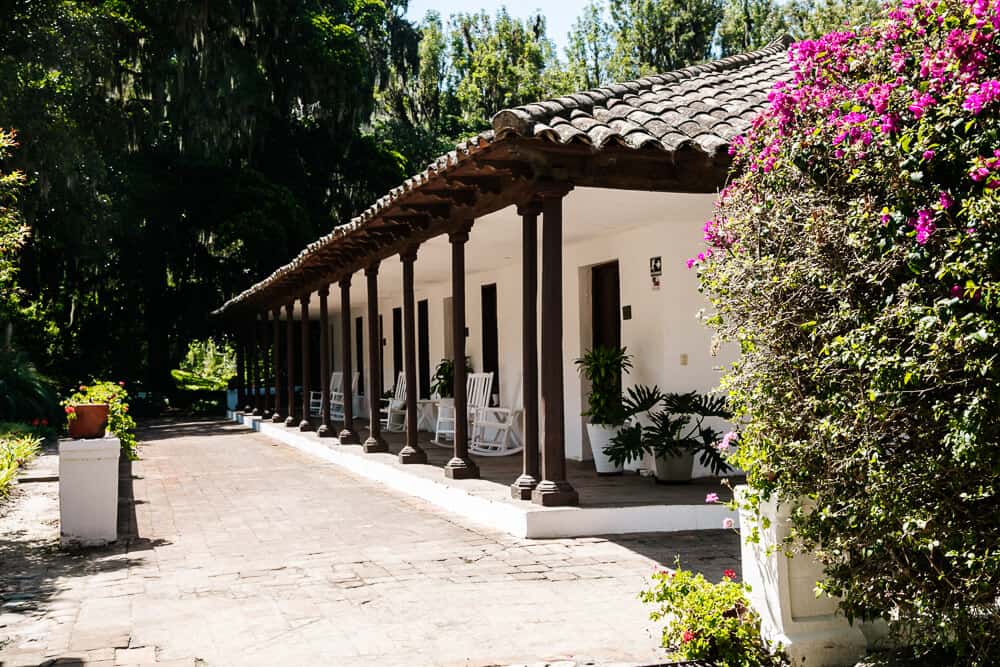
[[541, 507], [514, 501], [506, 485], [482, 479], [449, 480], [431, 465], [402, 465], [392, 454], [365, 454], [337, 438], [320, 440], [280, 424], [242, 413], [230, 418], [390, 490], [426, 500], [480, 526], [515, 537], [590, 537], [623, 533], [718, 530], [736, 518], [722, 505], [645, 505], [639, 507]]

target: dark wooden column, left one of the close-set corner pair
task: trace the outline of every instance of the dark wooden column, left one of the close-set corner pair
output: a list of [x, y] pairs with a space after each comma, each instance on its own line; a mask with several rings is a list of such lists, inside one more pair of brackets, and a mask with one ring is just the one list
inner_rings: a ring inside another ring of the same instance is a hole
[[510, 487], [518, 500], [531, 500], [538, 486], [538, 214], [541, 202], [519, 206], [521, 215], [521, 395], [524, 449], [521, 476]]

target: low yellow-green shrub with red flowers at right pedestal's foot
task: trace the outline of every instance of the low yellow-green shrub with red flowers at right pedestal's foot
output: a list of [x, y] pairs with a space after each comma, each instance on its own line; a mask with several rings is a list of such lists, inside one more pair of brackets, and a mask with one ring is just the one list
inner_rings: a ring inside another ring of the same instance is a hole
[[726, 570], [719, 583], [680, 567], [653, 575], [640, 599], [654, 605], [653, 621], [665, 621], [662, 645], [676, 659], [709, 660], [720, 667], [781, 667], [789, 664], [760, 636], [760, 615], [747, 599], [750, 587]]

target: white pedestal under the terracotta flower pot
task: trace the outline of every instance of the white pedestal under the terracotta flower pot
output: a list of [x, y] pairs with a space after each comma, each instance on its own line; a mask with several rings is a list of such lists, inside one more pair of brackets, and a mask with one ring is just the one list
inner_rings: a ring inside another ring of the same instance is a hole
[[118, 438], [59, 441], [59, 532], [63, 546], [118, 539]]

